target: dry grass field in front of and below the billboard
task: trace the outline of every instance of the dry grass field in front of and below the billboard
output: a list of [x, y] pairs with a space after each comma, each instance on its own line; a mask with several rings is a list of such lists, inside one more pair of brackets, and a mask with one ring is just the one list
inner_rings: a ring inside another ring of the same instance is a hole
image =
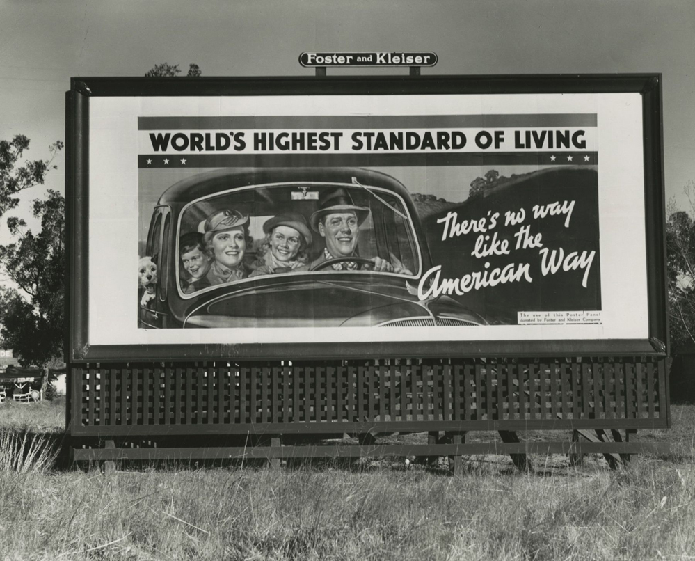
[[670, 455], [615, 472], [536, 456], [532, 475], [472, 457], [454, 476], [390, 459], [108, 477], [56, 468], [63, 406], [0, 406], [2, 559], [695, 559], [695, 406], [639, 433]]

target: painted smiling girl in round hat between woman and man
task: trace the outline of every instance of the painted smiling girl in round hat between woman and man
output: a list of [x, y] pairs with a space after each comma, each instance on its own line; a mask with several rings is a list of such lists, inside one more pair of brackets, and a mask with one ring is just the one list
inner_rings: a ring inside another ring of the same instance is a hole
[[273, 216], [263, 225], [266, 241], [259, 248], [259, 259], [251, 264], [250, 276], [306, 271], [307, 248], [312, 235], [302, 214], [287, 212]]

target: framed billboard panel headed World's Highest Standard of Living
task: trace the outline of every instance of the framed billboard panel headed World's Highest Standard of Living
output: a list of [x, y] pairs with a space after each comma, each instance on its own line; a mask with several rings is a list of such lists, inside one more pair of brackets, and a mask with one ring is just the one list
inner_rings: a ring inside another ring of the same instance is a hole
[[74, 358], [661, 352], [646, 80], [498, 81], [90, 88]]

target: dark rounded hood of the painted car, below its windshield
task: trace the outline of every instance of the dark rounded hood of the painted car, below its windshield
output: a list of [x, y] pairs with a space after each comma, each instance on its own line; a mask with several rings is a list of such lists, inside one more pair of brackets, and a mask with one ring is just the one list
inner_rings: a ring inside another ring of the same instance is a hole
[[[479, 325], [484, 321], [451, 299], [420, 302], [403, 278], [272, 280], [209, 294], [189, 308], [185, 327], [339, 327]], [[449, 321], [449, 323], [447, 323]]]

